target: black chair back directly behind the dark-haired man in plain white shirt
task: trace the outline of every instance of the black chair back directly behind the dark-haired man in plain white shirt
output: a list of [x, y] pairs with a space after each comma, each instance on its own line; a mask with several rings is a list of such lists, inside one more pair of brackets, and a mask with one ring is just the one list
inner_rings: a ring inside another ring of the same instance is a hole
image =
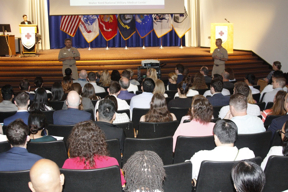
[[[261, 164], [261, 157], [250, 159]], [[231, 178], [233, 165], [239, 161], [202, 161], [195, 186], [196, 192], [225, 191], [234, 192]]]

